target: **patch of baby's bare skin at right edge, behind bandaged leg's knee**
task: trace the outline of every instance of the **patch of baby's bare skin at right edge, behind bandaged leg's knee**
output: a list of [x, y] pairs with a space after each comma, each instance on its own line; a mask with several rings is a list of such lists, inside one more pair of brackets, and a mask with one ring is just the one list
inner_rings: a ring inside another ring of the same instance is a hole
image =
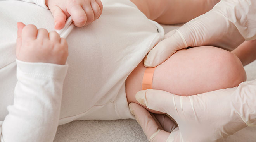
[[256, 60], [256, 40], [244, 41], [240, 46], [232, 51], [242, 62], [242, 64], [248, 65]]

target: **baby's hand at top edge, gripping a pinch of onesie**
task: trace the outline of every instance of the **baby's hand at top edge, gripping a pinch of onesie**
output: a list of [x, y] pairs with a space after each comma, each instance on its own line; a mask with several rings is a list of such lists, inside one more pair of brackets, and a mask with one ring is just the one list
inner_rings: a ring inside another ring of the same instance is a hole
[[55, 29], [62, 29], [70, 15], [75, 26], [88, 25], [100, 17], [103, 9], [100, 0], [45, 0], [45, 4], [54, 16]]

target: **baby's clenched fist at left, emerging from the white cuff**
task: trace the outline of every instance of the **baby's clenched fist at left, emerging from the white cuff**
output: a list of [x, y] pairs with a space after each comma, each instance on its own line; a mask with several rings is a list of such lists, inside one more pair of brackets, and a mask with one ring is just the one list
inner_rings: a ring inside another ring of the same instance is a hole
[[37, 29], [35, 25], [17, 23], [16, 57], [24, 62], [43, 62], [65, 65], [68, 56], [66, 39], [55, 31]]

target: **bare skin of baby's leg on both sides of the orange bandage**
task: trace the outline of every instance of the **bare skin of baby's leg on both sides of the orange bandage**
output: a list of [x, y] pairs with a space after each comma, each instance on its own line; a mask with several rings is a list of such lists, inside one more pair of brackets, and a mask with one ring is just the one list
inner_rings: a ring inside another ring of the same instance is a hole
[[[135, 94], [142, 90], [145, 69], [141, 62], [126, 79], [128, 103], [139, 104]], [[179, 50], [157, 66], [152, 89], [191, 96], [235, 87], [244, 81], [246, 81], [246, 73], [237, 56], [220, 48], [201, 46]]]

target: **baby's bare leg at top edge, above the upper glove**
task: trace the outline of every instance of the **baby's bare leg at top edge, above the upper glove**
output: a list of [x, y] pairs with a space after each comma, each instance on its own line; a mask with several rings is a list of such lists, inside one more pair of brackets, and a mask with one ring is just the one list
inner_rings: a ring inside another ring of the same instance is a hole
[[213, 8], [220, 0], [131, 0], [149, 19], [161, 24], [185, 23]]

